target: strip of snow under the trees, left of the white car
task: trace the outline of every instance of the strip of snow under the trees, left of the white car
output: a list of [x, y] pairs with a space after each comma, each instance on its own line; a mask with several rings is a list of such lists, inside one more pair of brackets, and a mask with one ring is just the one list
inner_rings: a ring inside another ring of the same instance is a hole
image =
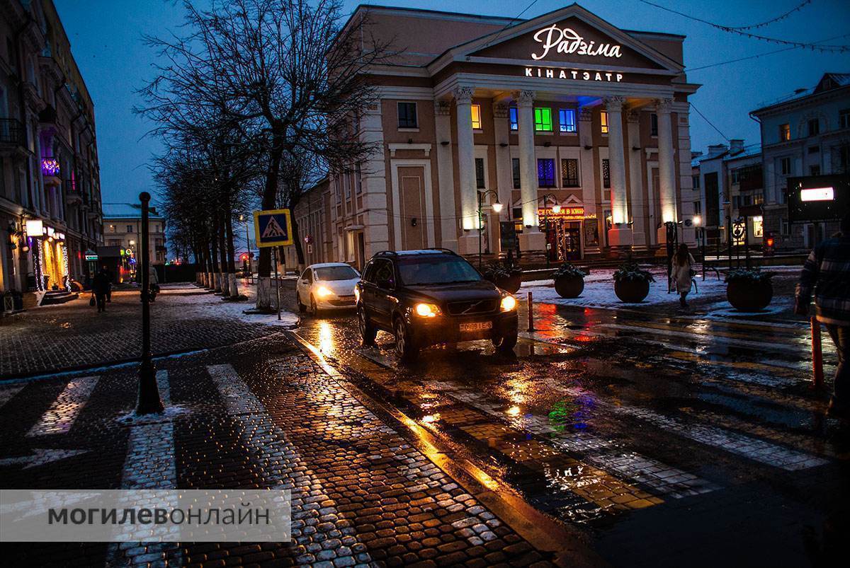
[[239, 283], [240, 294], [248, 296], [245, 301], [224, 301], [220, 296], [209, 294], [194, 284], [162, 284], [161, 295], [177, 295], [173, 306], [182, 310], [187, 317], [205, 316], [222, 319], [238, 319], [245, 323], [263, 323], [264, 325], [282, 325], [287, 329], [295, 328], [298, 316], [286, 310], [280, 311], [280, 321], [277, 314], [246, 314], [257, 303], [256, 286], [245, 286]]

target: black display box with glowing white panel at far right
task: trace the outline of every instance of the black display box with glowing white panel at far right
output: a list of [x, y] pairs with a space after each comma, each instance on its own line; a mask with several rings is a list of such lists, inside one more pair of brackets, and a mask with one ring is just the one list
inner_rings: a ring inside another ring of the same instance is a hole
[[834, 221], [850, 211], [850, 176], [789, 177], [790, 222]]

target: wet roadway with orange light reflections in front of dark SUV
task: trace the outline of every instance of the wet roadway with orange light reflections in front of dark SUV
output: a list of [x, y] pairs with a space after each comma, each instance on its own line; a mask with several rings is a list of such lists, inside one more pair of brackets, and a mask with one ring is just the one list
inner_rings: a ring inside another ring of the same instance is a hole
[[804, 536], [846, 509], [847, 431], [808, 389], [800, 324], [541, 304], [535, 325], [515, 357], [476, 341], [411, 366], [387, 334], [361, 348], [350, 313], [297, 333], [617, 565], [805, 564]]

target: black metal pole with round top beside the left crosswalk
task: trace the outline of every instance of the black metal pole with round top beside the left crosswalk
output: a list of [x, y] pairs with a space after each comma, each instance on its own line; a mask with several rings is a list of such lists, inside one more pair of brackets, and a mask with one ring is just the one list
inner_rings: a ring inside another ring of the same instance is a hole
[[142, 202], [142, 230], [139, 234], [139, 246], [142, 250], [142, 366], [139, 368], [139, 401], [136, 413], [139, 415], [160, 413], [164, 409], [159, 389], [156, 386], [156, 369], [150, 353], [150, 250], [148, 250], [148, 204], [150, 194], [139, 194]]

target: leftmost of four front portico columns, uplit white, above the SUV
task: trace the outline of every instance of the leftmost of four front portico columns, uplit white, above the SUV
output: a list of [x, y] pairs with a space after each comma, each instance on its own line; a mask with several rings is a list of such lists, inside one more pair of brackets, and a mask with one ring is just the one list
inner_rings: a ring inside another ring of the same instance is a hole
[[475, 188], [475, 142], [473, 139], [473, 87], [455, 89], [457, 120], [457, 177], [461, 188], [461, 228], [458, 252], [478, 253], [478, 189]]

